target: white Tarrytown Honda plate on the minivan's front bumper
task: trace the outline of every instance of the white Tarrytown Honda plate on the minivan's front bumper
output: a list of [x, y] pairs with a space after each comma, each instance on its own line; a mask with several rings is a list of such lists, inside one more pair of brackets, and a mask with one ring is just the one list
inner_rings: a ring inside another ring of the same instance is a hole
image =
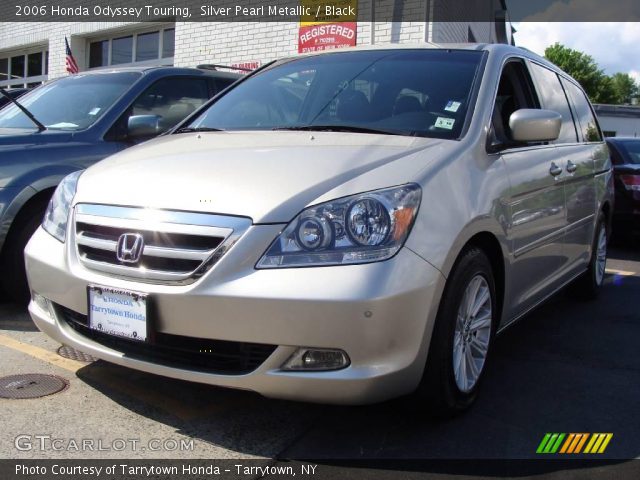
[[89, 328], [144, 342], [147, 339], [145, 294], [89, 286]]

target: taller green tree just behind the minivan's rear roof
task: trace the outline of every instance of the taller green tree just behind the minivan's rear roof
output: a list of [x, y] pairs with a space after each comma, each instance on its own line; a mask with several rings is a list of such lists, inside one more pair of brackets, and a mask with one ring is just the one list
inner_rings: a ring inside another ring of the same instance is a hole
[[611, 103], [614, 99], [611, 80], [598, 68], [591, 55], [555, 43], [544, 56], [575, 78], [594, 103]]

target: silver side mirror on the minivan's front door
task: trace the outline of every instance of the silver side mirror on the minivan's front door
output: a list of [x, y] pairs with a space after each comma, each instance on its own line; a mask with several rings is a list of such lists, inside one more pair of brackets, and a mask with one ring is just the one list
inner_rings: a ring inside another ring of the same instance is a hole
[[516, 142], [550, 142], [560, 135], [562, 116], [552, 110], [522, 108], [509, 117], [511, 138]]

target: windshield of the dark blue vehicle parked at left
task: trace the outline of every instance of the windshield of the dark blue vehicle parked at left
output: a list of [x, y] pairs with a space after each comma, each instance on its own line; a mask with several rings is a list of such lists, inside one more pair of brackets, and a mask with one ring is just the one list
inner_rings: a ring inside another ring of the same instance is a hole
[[[91, 126], [138, 78], [139, 72], [76, 74], [36, 88], [18, 101], [51, 130]], [[0, 128], [37, 127], [15, 105], [0, 110]]]

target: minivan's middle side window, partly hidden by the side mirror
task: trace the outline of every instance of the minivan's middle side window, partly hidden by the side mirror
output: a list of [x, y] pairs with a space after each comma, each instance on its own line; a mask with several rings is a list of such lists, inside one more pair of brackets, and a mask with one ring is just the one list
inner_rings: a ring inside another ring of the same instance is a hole
[[531, 71], [537, 83], [542, 108], [562, 115], [560, 135], [555, 143], [576, 143], [576, 128], [573, 124], [571, 109], [558, 75], [536, 63], [531, 63]]

